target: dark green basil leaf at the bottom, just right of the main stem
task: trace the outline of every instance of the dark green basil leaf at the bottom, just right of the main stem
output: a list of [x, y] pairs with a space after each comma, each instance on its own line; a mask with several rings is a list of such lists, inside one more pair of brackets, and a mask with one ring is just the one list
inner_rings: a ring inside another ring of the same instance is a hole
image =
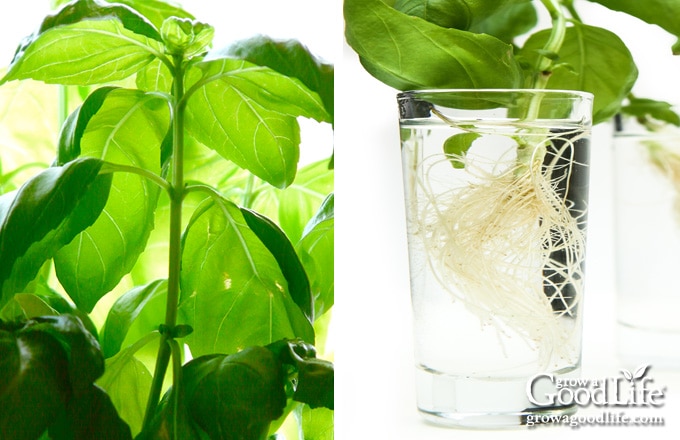
[[266, 440], [286, 406], [282, 365], [263, 347], [196, 358], [182, 367], [179, 389], [178, 414], [173, 388], [142, 438]]

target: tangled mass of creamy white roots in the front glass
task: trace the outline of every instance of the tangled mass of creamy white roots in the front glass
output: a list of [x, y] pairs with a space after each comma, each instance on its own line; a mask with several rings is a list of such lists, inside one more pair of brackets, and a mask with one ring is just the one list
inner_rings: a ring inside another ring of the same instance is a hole
[[[576, 139], [573, 133], [550, 136], [535, 146], [528, 166], [510, 158], [513, 165], [499, 170], [470, 155], [456, 157], [475, 183], [436, 196], [427, 175], [437, 164], [423, 165], [428, 169], [418, 182], [421, 199], [413, 219], [439, 283], [484, 325], [522, 335], [538, 350], [544, 367], [574, 356], [569, 339], [576, 326], [568, 317], [576, 315], [581, 300], [585, 255], [585, 232], [579, 225], [585, 213], [574, 215], [564, 196], [570, 172], [565, 167], [573, 164], [558, 161], [573, 152]], [[562, 146], [551, 151], [552, 145]], [[552, 281], [546, 281], [546, 272], [559, 275], [549, 278], [559, 281], [548, 289]], [[575, 297], [562, 297], [565, 292]], [[551, 301], [564, 307], [554, 309]]]

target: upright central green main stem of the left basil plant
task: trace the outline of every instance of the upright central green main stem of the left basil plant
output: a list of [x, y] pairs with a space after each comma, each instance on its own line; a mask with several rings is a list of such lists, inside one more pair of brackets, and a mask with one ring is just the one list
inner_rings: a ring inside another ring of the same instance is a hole
[[[172, 183], [170, 187], [170, 252], [168, 257], [168, 298], [165, 309], [165, 326], [168, 329], [177, 323], [179, 305], [179, 278], [182, 240], [182, 202], [184, 200], [184, 69], [183, 57], [174, 57], [173, 112], [172, 112]], [[156, 369], [154, 371], [149, 401], [144, 415], [144, 427], [148, 428], [158, 406], [163, 380], [172, 352], [172, 332], [164, 332], [161, 337]]]

